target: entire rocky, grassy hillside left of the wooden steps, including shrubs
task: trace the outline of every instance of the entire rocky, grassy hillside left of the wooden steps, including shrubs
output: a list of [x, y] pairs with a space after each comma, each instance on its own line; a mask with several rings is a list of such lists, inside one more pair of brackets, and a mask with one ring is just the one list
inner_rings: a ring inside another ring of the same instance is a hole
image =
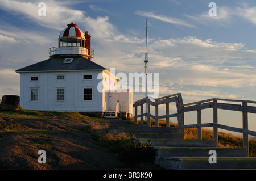
[[[151, 146], [128, 133], [109, 133], [105, 121], [77, 112], [0, 112], [0, 170], [159, 169], [151, 163], [129, 165], [141, 163], [134, 155], [145, 155], [145, 149], [153, 153]], [[38, 163], [39, 150], [46, 151], [46, 164]]]

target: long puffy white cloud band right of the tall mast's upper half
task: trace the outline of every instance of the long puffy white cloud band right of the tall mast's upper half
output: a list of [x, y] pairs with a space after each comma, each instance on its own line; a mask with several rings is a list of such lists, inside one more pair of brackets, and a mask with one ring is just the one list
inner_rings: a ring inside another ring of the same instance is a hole
[[229, 58], [255, 58], [255, 50], [247, 50], [242, 43], [217, 42], [212, 39], [199, 39], [186, 36], [177, 39], [155, 40], [150, 47], [151, 52], [163, 54], [165, 57], [186, 57], [197, 61], [208, 61], [209, 58], [221, 60]]

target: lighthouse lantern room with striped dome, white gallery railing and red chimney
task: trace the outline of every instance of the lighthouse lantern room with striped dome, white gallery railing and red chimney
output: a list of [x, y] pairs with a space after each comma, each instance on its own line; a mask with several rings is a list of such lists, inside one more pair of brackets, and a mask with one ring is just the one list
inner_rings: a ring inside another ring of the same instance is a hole
[[49, 57], [64, 55], [80, 55], [89, 60], [93, 58], [94, 50], [90, 48], [90, 35], [77, 28], [77, 24], [68, 24], [68, 27], [60, 32], [58, 47], [49, 49]]

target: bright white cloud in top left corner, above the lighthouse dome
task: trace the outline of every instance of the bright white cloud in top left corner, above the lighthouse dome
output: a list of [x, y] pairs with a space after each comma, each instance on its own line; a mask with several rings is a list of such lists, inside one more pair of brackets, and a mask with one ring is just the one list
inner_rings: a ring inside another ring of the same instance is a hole
[[0, 8], [13, 14], [23, 15], [26, 18], [38, 23], [40, 26], [53, 28], [55, 30], [63, 29], [63, 24], [73, 20], [84, 19], [84, 11], [72, 10], [65, 1], [44, 1], [46, 4], [46, 16], [39, 16], [39, 2], [24, 2], [14, 0], [0, 1]]

